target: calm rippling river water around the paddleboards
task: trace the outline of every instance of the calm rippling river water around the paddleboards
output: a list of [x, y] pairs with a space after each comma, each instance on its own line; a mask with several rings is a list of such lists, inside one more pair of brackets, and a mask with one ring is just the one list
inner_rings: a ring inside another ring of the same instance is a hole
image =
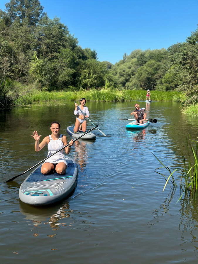
[[95, 141], [76, 141], [70, 156], [79, 166], [77, 186], [65, 201], [42, 208], [18, 198], [27, 175], [4, 181], [45, 158], [47, 147], [35, 152], [32, 132], [43, 138], [57, 120], [66, 134], [75, 123], [74, 104], [0, 112], [1, 263], [197, 263], [197, 203], [184, 197], [176, 204], [179, 187], [162, 192], [165, 180], [155, 172], [161, 165], [153, 156], [182, 166], [186, 135], [198, 136], [197, 120], [184, 116], [177, 103], [139, 101], [158, 122], [126, 130], [128, 122], [118, 118], [130, 118], [134, 104], [87, 102], [90, 119], [107, 136], [95, 131]]

